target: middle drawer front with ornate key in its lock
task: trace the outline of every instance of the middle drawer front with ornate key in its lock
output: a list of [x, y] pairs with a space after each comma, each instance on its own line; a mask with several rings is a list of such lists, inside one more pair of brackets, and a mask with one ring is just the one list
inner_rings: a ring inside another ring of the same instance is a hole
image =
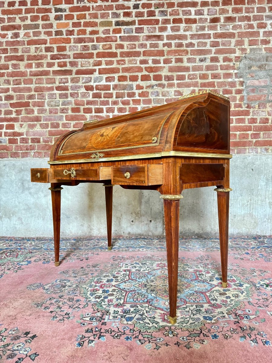
[[67, 168], [53, 169], [54, 179], [71, 179], [71, 180], [98, 180], [97, 168]]

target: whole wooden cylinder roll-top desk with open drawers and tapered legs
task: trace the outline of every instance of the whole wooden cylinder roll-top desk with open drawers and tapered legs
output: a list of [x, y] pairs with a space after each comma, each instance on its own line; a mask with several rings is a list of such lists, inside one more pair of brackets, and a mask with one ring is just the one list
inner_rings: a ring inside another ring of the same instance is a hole
[[178, 231], [181, 192], [216, 186], [222, 286], [227, 287], [230, 102], [210, 90], [177, 102], [102, 121], [62, 135], [50, 168], [31, 169], [31, 181], [51, 183], [55, 266], [59, 266], [61, 185], [103, 183], [108, 249], [111, 250], [112, 188], [149, 189], [163, 199], [170, 323], [176, 323]]

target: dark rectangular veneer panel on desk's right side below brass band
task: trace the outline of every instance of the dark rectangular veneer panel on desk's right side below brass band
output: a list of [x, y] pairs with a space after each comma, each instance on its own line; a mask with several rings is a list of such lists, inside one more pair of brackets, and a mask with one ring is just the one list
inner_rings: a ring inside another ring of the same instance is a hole
[[216, 181], [224, 179], [223, 164], [182, 164], [180, 181], [182, 184]]

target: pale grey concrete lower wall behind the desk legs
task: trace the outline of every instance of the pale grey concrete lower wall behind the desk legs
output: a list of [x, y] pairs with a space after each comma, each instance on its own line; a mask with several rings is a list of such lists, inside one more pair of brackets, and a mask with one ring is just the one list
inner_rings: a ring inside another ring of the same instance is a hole
[[[52, 236], [49, 184], [31, 183], [30, 168], [47, 160], [0, 161], [0, 235]], [[230, 235], [272, 234], [272, 155], [234, 155], [231, 160]], [[182, 236], [217, 236], [214, 187], [185, 190], [180, 209]], [[164, 234], [162, 200], [157, 191], [114, 187], [113, 235]], [[106, 235], [102, 184], [64, 186], [61, 236]]]

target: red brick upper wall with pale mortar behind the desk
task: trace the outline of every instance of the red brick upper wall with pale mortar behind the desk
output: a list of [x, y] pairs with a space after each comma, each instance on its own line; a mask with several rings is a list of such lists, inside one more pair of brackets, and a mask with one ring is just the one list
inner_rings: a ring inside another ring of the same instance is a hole
[[[189, 7], [190, 5], [190, 7]], [[233, 153], [272, 149], [272, 0], [0, 0], [0, 157], [210, 88]]]

